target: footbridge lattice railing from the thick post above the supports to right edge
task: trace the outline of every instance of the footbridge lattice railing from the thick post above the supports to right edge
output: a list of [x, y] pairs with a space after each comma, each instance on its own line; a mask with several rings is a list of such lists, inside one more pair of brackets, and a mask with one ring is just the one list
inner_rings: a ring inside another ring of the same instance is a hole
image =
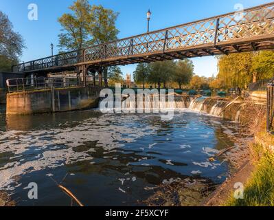
[[84, 49], [84, 62], [195, 49], [274, 34], [274, 3]]

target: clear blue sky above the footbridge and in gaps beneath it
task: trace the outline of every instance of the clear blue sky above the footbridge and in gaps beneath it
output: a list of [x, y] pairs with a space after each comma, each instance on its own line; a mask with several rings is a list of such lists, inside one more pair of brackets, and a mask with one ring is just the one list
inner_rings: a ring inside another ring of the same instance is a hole
[[[14, 30], [25, 39], [27, 49], [24, 50], [21, 61], [31, 61], [36, 58], [50, 56], [50, 44], [58, 45], [60, 25], [58, 17], [69, 12], [67, 9], [73, 0], [0, 0], [0, 10], [8, 14], [14, 25]], [[94, 0], [91, 4], [102, 4], [119, 12], [117, 28], [119, 38], [146, 32], [146, 12], [150, 8], [152, 19], [150, 30], [168, 28], [204, 19], [218, 14], [234, 11], [236, 3], [242, 3], [244, 8], [253, 7], [271, 0]], [[27, 6], [30, 3], [38, 5], [38, 21], [29, 21]], [[54, 53], [57, 53], [55, 47]], [[195, 73], [199, 76], [212, 76], [217, 73], [214, 57], [194, 58]], [[122, 67], [124, 74], [133, 73], [135, 65]]]

